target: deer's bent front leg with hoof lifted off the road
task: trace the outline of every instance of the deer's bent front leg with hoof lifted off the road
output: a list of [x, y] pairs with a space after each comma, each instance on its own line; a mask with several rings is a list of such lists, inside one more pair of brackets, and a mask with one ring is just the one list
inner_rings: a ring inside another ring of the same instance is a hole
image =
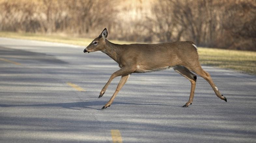
[[103, 94], [105, 93], [105, 91], [107, 90], [107, 87], [108, 85], [110, 84], [110, 82], [117, 76], [121, 76], [121, 75], [126, 75], [128, 73], [131, 73], [132, 72], [132, 69], [131, 68], [125, 68], [125, 67], [122, 67], [120, 70], [114, 72], [109, 80], [107, 81], [107, 83], [105, 84], [105, 86], [102, 88], [101, 92], [100, 92], [100, 95], [98, 98], [102, 97]]

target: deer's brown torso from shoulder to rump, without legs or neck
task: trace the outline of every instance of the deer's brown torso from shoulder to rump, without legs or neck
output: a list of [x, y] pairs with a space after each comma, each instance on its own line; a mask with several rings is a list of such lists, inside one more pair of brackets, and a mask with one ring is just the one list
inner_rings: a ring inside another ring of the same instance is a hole
[[[133, 64], [137, 71], [153, 69], [155, 71], [190, 63], [198, 60], [197, 49], [191, 41], [177, 41], [159, 44], [129, 44], [122, 45], [125, 49], [121, 63]], [[125, 63], [124, 63], [125, 62]]]

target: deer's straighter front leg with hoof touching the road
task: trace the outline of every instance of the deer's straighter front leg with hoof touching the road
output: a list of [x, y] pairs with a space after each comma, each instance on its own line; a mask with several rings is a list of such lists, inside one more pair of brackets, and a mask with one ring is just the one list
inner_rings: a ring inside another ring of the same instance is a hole
[[130, 77], [131, 74], [126, 74], [126, 75], [122, 75], [120, 82], [117, 85], [117, 89], [115, 91], [115, 93], [112, 95], [112, 97], [110, 98], [110, 100], [107, 102], [106, 105], [104, 105], [102, 107], [102, 109], [106, 109], [107, 107], [109, 107], [112, 103], [113, 100], [115, 99], [116, 95], [118, 94], [118, 92], [121, 90], [121, 88], [123, 87], [123, 85], [125, 84], [125, 82], [128, 80], [128, 78]]

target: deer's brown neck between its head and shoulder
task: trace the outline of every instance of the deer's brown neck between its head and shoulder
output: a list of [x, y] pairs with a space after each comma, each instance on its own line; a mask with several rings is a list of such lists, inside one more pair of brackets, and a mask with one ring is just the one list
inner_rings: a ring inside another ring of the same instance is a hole
[[106, 48], [102, 50], [103, 53], [107, 54], [110, 58], [115, 60], [117, 63], [120, 64], [120, 53], [121, 53], [121, 48], [119, 47], [119, 44], [114, 44], [109, 42], [106, 39]]

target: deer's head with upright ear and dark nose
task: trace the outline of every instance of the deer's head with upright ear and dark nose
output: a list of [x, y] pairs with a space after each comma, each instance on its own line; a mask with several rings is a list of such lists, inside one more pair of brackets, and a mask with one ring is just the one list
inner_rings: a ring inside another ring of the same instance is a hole
[[107, 38], [107, 28], [105, 28], [99, 37], [95, 38], [85, 49], [84, 53], [102, 51], [105, 49]]

